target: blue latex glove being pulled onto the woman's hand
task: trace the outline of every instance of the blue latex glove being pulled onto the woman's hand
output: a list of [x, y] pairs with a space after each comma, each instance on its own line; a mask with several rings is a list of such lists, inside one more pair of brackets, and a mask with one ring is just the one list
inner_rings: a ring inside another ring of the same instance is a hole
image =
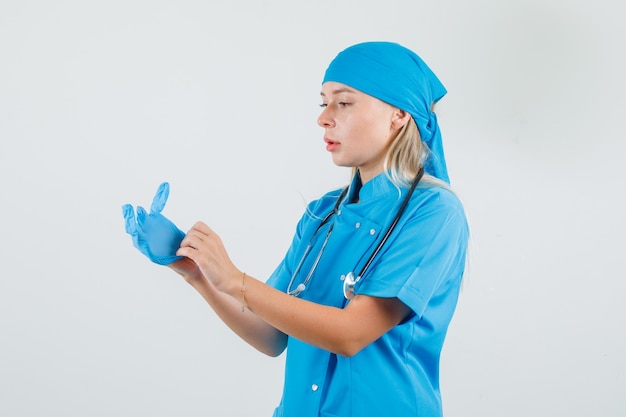
[[182, 256], [176, 256], [176, 251], [185, 237], [185, 233], [161, 214], [169, 194], [170, 185], [164, 182], [159, 186], [152, 200], [150, 214], [147, 214], [143, 207], [138, 206], [136, 218], [132, 205], [122, 206], [126, 233], [132, 236], [133, 245], [148, 259], [159, 265], [169, 265], [182, 258]]

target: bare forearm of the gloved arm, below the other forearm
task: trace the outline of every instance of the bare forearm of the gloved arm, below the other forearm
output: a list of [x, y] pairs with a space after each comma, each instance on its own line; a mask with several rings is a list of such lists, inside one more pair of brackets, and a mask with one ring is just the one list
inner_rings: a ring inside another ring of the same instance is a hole
[[[188, 263], [184, 263], [188, 262]], [[183, 259], [170, 266], [204, 298], [218, 317], [239, 337], [269, 356], [278, 356], [285, 349], [287, 336], [260, 317], [245, 310], [241, 303], [207, 281], [193, 262]]]

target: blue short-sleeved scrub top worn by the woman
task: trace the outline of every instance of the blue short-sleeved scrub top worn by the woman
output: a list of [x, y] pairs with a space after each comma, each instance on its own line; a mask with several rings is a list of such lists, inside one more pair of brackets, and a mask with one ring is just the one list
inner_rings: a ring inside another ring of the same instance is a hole
[[[269, 285], [287, 291], [311, 242], [313, 248], [292, 289], [301, 283], [333, 224], [321, 260], [300, 297], [329, 306], [346, 305], [341, 275], [361, 270], [408, 191], [398, 189], [384, 173], [360, 190], [356, 181], [337, 214], [317, 233], [340, 190], [309, 204]], [[465, 212], [456, 196], [442, 187], [420, 184], [355, 291], [397, 297], [412, 314], [349, 358], [289, 337], [283, 397], [274, 416], [441, 416], [439, 357], [459, 295], [468, 236]]]

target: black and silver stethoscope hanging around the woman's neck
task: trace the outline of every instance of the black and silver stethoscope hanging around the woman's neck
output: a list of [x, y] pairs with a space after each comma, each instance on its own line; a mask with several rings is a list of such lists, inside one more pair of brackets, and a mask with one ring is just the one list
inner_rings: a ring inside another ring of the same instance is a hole
[[[352, 299], [354, 297], [354, 287], [363, 278], [363, 276], [365, 275], [365, 273], [369, 269], [370, 265], [374, 261], [374, 258], [376, 258], [376, 255], [378, 255], [378, 252], [380, 252], [380, 250], [384, 246], [385, 242], [387, 242], [387, 239], [389, 239], [389, 236], [391, 235], [391, 233], [395, 229], [396, 225], [398, 224], [398, 221], [400, 220], [400, 217], [402, 216], [402, 214], [406, 210], [406, 206], [408, 205], [409, 200], [411, 199], [411, 195], [413, 195], [413, 191], [415, 190], [415, 187], [420, 182], [420, 180], [422, 179], [423, 175], [424, 175], [424, 168], [422, 167], [422, 168], [420, 168], [419, 172], [415, 176], [415, 180], [411, 184], [411, 187], [409, 188], [409, 191], [407, 192], [406, 196], [404, 197], [404, 200], [402, 201], [402, 204], [398, 208], [398, 211], [396, 212], [396, 215], [393, 218], [393, 221], [391, 222], [391, 224], [387, 228], [387, 231], [385, 232], [385, 235], [383, 236], [381, 241], [378, 242], [378, 245], [376, 246], [376, 248], [374, 249], [374, 251], [372, 252], [370, 257], [367, 259], [367, 262], [365, 262], [365, 265], [363, 266], [363, 268], [361, 268], [361, 271], [359, 272], [359, 274], [356, 275], [356, 277], [355, 277], [354, 272], [348, 272], [347, 274], [342, 275], [340, 277], [341, 281], [343, 282], [343, 295], [344, 295], [344, 297], [346, 299], [350, 300], [350, 299]], [[334, 223], [331, 223], [330, 227], [328, 228], [328, 231], [326, 232], [326, 236], [324, 237], [324, 242], [322, 243], [320, 251], [317, 254], [315, 260], [313, 261], [313, 265], [311, 266], [311, 270], [306, 275], [304, 280], [300, 284], [298, 284], [298, 286], [295, 289], [293, 289], [293, 290], [291, 289], [291, 287], [293, 286], [293, 283], [294, 283], [294, 281], [296, 279], [296, 276], [298, 275], [298, 273], [300, 272], [300, 269], [302, 268], [302, 264], [304, 264], [305, 259], [307, 258], [307, 256], [309, 255], [309, 252], [311, 252], [311, 249], [313, 248], [313, 244], [312, 244], [313, 238], [315, 237], [317, 232], [319, 232], [320, 229], [326, 223], [328, 223], [328, 221], [331, 219], [331, 217], [333, 215], [335, 215], [335, 213], [337, 213], [339, 211], [339, 206], [343, 202], [347, 192], [348, 192], [348, 187], [344, 188], [341, 191], [341, 194], [337, 198], [337, 202], [335, 203], [333, 209], [328, 214], [326, 214], [326, 216], [322, 219], [320, 224], [315, 229], [315, 232], [313, 232], [313, 235], [311, 236], [311, 239], [309, 240], [309, 244], [307, 245], [307, 247], [306, 247], [306, 249], [304, 251], [304, 254], [302, 255], [302, 258], [300, 259], [300, 262], [298, 262], [298, 266], [296, 267], [296, 269], [294, 270], [293, 274], [291, 275], [291, 279], [289, 280], [289, 285], [287, 285], [287, 294], [293, 295], [294, 297], [298, 297], [300, 294], [302, 294], [302, 292], [304, 290], [306, 290], [308, 288], [309, 282], [311, 281], [311, 278], [313, 277], [313, 273], [315, 272], [315, 269], [317, 268], [317, 264], [322, 259], [322, 254], [324, 253], [324, 248], [326, 248], [326, 244], [328, 243], [328, 240], [330, 239], [330, 234], [333, 231]]]

